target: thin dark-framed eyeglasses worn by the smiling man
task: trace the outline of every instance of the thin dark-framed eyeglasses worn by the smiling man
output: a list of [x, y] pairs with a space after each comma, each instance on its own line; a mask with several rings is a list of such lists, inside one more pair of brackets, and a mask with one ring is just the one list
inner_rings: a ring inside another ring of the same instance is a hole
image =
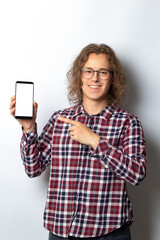
[[113, 71], [108, 69], [100, 69], [98, 71], [93, 70], [92, 68], [81, 69], [82, 77], [84, 77], [85, 79], [92, 78], [95, 72], [97, 72], [97, 77], [104, 81], [109, 79], [110, 74], [113, 74]]

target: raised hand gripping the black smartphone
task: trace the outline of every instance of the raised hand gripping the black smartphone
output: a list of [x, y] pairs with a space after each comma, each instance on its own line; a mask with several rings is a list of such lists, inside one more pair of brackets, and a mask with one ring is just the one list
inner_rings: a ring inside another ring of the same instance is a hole
[[[10, 102], [10, 107], [9, 107], [10, 114], [13, 117], [15, 117], [15, 103], [16, 103], [16, 97], [13, 96], [13, 97], [11, 97], [11, 102]], [[20, 123], [20, 125], [23, 127], [23, 130], [25, 132], [31, 132], [35, 129], [37, 109], [38, 109], [38, 104], [34, 101], [34, 103], [33, 103], [33, 118], [32, 119], [16, 119]]]

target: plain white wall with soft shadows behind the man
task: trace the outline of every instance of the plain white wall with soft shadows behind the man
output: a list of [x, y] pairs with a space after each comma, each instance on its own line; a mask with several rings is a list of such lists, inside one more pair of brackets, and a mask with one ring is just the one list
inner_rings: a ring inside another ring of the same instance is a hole
[[29, 179], [19, 153], [21, 127], [10, 116], [15, 82], [35, 83], [39, 133], [51, 114], [69, 106], [66, 72], [87, 44], [106, 43], [128, 79], [124, 107], [141, 120], [147, 177], [129, 186], [133, 240], [160, 236], [160, 2], [157, 0], [0, 1], [0, 239], [45, 240], [48, 174]]

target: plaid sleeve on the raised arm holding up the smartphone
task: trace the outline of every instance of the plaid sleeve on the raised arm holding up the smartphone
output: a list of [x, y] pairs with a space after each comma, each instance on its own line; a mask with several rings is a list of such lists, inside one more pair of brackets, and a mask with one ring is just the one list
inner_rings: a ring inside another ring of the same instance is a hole
[[37, 177], [51, 162], [51, 143], [54, 118], [48, 121], [38, 137], [37, 125], [32, 132], [23, 131], [20, 144], [21, 158], [29, 177]]

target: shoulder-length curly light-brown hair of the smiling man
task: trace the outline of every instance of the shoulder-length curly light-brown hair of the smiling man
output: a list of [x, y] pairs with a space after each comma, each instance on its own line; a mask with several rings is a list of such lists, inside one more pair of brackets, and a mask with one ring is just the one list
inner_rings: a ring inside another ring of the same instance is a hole
[[88, 60], [91, 53], [106, 54], [113, 71], [112, 85], [108, 93], [108, 103], [118, 104], [123, 98], [126, 89], [126, 78], [121, 63], [114, 51], [106, 44], [89, 44], [82, 49], [74, 60], [71, 69], [67, 73], [68, 79], [68, 99], [71, 103], [79, 105], [83, 100], [81, 69]]

